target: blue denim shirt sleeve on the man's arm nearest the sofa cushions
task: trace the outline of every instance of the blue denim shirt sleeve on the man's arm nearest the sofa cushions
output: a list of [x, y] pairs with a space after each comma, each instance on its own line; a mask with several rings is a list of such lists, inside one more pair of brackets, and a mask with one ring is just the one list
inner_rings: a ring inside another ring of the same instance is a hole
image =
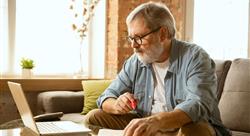
[[175, 109], [184, 111], [193, 122], [208, 120], [214, 106], [218, 106], [215, 63], [200, 49], [193, 55], [187, 67], [187, 96]]

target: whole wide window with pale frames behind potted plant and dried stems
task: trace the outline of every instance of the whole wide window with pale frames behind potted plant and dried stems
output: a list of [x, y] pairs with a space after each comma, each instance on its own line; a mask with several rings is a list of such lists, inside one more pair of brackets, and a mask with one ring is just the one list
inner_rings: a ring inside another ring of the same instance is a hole
[[[3, 53], [0, 58], [1, 75], [20, 75], [20, 60], [26, 57], [34, 60], [34, 75], [38, 77], [73, 76], [80, 69], [79, 50], [82, 46], [85, 76], [104, 76], [105, 0], [101, 0], [96, 7], [88, 39], [83, 45], [80, 45], [80, 40], [71, 27], [74, 21], [69, 9], [71, 0], [11, 1], [1, 0], [1, 7], [6, 7], [1, 8], [1, 27], [15, 28], [1, 31], [0, 38], [3, 41], [9, 39], [9, 43], [1, 42], [0, 46], [1, 54]], [[11, 14], [15, 15], [14, 18]], [[103, 23], [97, 25], [96, 21]], [[98, 31], [94, 29], [97, 26]], [[8, 35], [8, 32], [15, 35]], [[98, 58], [92, 57], [95, 55]], [[95, 61], [98, 63], [93, 63]]]

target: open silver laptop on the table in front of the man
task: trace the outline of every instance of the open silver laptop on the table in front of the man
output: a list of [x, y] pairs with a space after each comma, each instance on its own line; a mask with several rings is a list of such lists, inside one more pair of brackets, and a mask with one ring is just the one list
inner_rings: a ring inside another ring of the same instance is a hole
[[90, 129], [84, 125], [76, 124], [72, 121], [51, 121], [51, 122], [35, 122], [33, 114], [24, 95], [21, 84], [8, 82], [11, 94], [17, 105], [17, 109], [22, 118], [24, 126], [31, 129], [36, 135], [81, 135], [87, 136]]

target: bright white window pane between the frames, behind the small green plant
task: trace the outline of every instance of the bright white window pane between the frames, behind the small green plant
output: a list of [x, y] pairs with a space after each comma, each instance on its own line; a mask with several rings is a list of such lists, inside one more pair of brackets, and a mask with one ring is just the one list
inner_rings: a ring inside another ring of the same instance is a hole
[[68, 0], [17, 0], [15, 71], [22, 57], [34, 59], [40, 74], [77, 71], [80, 43], [71, 28], [69, 6]]

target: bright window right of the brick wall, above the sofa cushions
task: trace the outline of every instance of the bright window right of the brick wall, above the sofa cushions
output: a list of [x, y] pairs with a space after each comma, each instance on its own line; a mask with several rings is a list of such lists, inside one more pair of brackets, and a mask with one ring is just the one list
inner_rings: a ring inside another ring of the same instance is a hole
[[187, 26], [192, 28], [189, 35], [194, 43], [214, 59], [249, 57], [249, 0], [193, 0], [192, 3], [191, 7], [188, 3], [187, 10], [193, 20], [191, 16], [187, 22], [191, 19], [193, 26]]

